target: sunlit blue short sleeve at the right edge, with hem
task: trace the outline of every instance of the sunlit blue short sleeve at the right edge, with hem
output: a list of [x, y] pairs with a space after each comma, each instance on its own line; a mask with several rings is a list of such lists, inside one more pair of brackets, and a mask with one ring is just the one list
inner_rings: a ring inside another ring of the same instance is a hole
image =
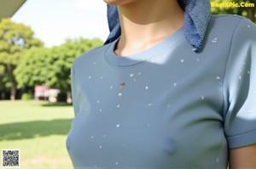
[[242, 18], [224, 77], [224, 132], [229, 148], [256, 144], [256, 25]]

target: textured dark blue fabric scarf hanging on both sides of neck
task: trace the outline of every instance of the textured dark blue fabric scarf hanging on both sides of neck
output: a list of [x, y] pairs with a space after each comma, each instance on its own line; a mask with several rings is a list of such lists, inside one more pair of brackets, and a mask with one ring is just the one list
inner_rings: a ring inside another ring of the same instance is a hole
[[[211, 17], [211, 5], [208, 0], [177, 0], [184, 10], [184, 36], [197, 52], [207, 31]], [[110, 34], [104, 44], [113, 42], [121, 35], [118, 8], [108, 5], [108, 28]]]

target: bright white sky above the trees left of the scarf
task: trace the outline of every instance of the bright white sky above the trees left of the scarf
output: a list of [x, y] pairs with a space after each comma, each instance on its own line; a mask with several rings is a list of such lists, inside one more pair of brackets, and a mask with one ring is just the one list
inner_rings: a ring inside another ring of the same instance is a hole
[[11, 20], [28, 25], [45, 47], [67, 38], [108, 37], [107, 6], [103, 0], [26, 0]]

